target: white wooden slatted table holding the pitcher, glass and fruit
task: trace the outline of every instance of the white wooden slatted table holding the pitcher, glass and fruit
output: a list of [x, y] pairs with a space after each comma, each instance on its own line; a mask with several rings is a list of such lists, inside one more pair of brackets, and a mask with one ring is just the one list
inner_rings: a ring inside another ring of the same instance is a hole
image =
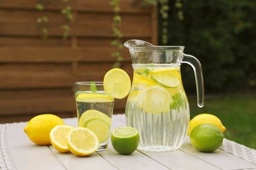
[[[77, 118], [64, 119], [77, 126]], [[181, 149], [170, 152], [141, 152], [123, 156], [111, 143], [105, 152], [88, 157], [61, 154], [53, 146], [33, 144], [23, 131], [26, 122], [0, 124], [0, 169], [256, 169], [256, 150], [224, 139], [212, 153], [198, 152], [187, 138]], [[112, 119], [112, 129], [125, 126], [125, 115]]]

